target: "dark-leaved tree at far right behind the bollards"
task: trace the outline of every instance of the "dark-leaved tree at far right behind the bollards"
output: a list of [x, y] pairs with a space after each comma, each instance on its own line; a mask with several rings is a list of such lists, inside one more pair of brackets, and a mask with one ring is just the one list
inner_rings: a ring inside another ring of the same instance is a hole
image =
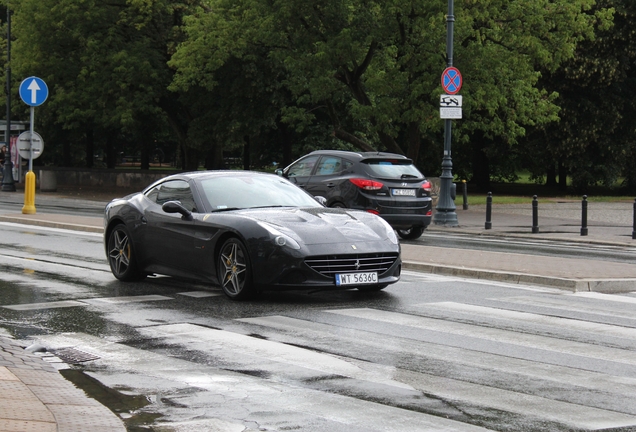
[[[560, 121], [541, 128], [527, 142], [534, 162], [528, 168], [548, 185], [567, 187], [566, 178], [584, 192], [613, 185], [619, 177], [636, 187], [636, 5], [599, 0], [595, 9], [612, 8], [613, 25], [598, 23], [594, 40], [584, 41], [572, 60], [546, 73], [542, 85], [558, 92]], [[547, 167], [547, 170], [546, 170]]]

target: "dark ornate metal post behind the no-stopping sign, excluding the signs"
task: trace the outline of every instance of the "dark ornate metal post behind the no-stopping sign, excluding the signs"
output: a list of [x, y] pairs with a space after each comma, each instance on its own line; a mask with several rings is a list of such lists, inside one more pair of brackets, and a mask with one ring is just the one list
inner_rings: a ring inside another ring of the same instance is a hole
[[[448, 67], [453, 66], [453, 30], [455, 23], [454, 0], [448, 0], [448, 15], [446, 15], [446, 58]], [[442, 159], [442, 175], [440, 175], [439, 201], [433, 216], [435, 225], [457, 226], [455, 202], [451, 198], [453, 183], [453, 161], [451, 158], [452, 120], [444, 120], [444, 157]]]

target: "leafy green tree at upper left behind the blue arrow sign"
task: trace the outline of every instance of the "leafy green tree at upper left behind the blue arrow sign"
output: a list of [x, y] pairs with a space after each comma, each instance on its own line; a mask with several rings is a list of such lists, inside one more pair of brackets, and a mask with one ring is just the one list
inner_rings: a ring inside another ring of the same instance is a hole
[[113, 146], [122, 133], [137, 143], [147, 162], [154, 131], [169, 124], [187, 163], [187, 133], [179, 133], [187, 110], [181, 95], [167, 90], [172, 71], [166, 63], [181, 35], [182, 16], [194, 2], [12, 2], [14, 76], [37, 75], [49, 85], [50, 98], [38, 110], [41, 124], [61, 125], [74, 141], [82, 137], [88, 166], [98, 140], [109, 147], [108, 165], [114, 165]]

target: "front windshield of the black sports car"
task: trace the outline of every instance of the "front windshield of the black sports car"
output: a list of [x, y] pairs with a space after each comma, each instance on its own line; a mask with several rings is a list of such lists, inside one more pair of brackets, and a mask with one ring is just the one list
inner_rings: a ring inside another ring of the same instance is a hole
[[322, 207], [302, 189], [275, 175], [236, 175], [200, 181], [212, 211], [254, 207]]

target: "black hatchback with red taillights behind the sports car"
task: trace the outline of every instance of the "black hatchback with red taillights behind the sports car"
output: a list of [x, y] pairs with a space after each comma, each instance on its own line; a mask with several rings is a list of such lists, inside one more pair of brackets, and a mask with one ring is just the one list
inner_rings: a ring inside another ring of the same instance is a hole
[[400, 237], [420, 237], [431, 223], [431, 183], [405, 156], [383, 152], [318, 150], [277, 173], [328, 207], [366, 210]]

